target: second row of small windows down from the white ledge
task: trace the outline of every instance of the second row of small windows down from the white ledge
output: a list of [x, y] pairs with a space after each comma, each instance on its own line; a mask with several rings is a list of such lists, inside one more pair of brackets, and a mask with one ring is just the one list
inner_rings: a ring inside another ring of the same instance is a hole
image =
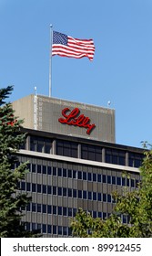
[[25, 181], [21, 182], [21, 190], [27, 192], [43, 193], [47, 195], [61, 196], [61, 197], [73, 197], [86, 200], [94, 200], [100, 202], [114, 203], [114, 200], [110, 194], [97, 193], [93, 191], [77, 190], [67, 187], [55, 187], [46, 186], [42, 184], [29, 183]]

